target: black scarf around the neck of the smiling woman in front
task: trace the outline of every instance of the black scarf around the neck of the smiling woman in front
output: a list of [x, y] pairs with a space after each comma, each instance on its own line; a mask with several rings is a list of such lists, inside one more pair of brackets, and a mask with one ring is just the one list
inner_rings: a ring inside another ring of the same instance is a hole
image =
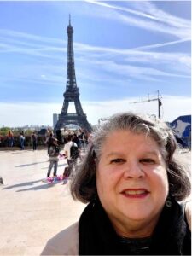
[[[190, 239], [182, 207], [172, 200], [172, 207], [165, 206], [161, 212], [147, 255], [191, 255]], [[79, 220], [79, 255], [133, 254], [120, 241], [100, 201], [90, 202]]]

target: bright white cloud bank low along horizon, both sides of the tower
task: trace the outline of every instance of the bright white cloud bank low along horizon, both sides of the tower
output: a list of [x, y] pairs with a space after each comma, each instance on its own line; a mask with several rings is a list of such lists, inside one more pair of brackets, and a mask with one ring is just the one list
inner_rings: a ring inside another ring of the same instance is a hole
[[[82, 102], [82, 107], [92, 125], [97, 124], [98, 119], [118, 112], [136, 111], [158, 115], [157, 101], [132, 104], [137, 101], [138, 98], [125, 98], [119, 101]], [[165, 121], [191, 114], [190, 97], [163, 96], [161, 101], [161, 115]], [[61, 104], [54, 103], [0, 103], [0, 126], [52, 125], [53, 113], [61, 113], [61, 107]]]

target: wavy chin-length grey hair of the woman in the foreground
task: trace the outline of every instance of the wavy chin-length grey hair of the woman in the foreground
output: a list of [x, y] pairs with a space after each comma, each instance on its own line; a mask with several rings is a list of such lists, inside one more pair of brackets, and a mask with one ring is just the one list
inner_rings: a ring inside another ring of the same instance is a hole
[[147, 115], [128, 112], [113, 115], [93, 132], [92, 145], [71, 183], [73, 199], [87, 203], [96, 198], [96, 166], [101, 158], [102, 145], [111, 132], [118, 130], [152, 137], [160, 146], [160, 152], [166, 162], [169, 195], [177, 201], [182, 201], [190, 194], [189, 173], [183, 165], [182, 158], [175, 157], [178, 146], [172, 130], [160, 119], [151, 119]]

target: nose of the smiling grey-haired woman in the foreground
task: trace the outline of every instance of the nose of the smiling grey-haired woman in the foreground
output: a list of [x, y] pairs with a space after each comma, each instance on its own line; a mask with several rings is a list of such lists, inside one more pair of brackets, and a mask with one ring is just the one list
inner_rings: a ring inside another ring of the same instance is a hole
[[144, 172], [141, 168], [139, 162], [135, 161], [127, 161], [125, 165], [125, 178], [141, 178], [144, 177]]

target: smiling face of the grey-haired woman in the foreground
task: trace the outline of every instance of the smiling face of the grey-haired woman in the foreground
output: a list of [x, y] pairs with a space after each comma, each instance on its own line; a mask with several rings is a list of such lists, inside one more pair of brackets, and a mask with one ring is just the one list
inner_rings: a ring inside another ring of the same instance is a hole
[[102, 146], [96, 187], [102, 206], [120, 235], [150, 236], [169, 187], [158, 144], [143, 134], [111, 132]]

